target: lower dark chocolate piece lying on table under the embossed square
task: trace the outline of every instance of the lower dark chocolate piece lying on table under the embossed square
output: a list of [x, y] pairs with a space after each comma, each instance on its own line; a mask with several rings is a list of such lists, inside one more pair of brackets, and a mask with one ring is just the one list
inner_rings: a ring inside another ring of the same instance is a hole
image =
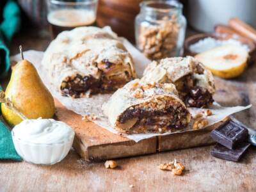
[[211, 150], [211, 155], [228, 161], [239, 161], [250, 145], [250, 143], [240, 143], [236, 148], [229, 149], [220, 144], [216, 144]]

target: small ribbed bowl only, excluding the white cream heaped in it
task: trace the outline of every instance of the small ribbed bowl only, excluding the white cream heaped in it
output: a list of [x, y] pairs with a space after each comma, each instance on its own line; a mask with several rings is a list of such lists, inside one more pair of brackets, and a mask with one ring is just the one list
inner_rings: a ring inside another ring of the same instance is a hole
[[17, 138], [12, 131], [12, 139], [17, 153], [25, 161], [34, 164], [55, 164], [60, 162], [67, 156], [72, 147], [74, 136], [75, 133], [72, 131], [72, 135], [68, 141], [47, 144], [30, 143]]

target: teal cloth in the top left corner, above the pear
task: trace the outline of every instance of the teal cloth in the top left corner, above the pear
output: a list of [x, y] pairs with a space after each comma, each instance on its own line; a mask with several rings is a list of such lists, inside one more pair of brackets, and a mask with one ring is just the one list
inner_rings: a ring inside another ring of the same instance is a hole
[[3, 22], [0, 24], [0, 77], [6, 77], [10, 69], [8, 46], [13, 35], [20, 29], [20, 9], [18, 4], [9, 0], [3, 9]]

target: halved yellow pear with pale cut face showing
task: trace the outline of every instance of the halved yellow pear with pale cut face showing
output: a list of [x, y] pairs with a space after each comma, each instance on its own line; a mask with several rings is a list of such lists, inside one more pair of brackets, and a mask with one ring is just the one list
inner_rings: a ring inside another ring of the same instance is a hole
[[240, 76], [246, 68], [248, 57], [248, 52], [239, 45], [222, 45], [195, 56], [212, 74], [225, 79]]

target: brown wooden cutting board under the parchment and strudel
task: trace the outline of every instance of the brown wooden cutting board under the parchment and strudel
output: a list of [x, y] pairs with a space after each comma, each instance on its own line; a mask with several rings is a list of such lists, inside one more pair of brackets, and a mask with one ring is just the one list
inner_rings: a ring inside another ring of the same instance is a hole
[[118, 134], [113, 134], [93, 122], [82, 120], [81, 115], [66, 109], [58, 100], [55, 100], [55, 105], [56, 118], [70, 125], [76, 132], [73, 147], [83, 159], [89, 161], [103, 161], [211, 145], [214, 141], [210, 137], [210, 132], [225, 122], [224, 120], [204, 130], [156, 136], [136, 143]]

